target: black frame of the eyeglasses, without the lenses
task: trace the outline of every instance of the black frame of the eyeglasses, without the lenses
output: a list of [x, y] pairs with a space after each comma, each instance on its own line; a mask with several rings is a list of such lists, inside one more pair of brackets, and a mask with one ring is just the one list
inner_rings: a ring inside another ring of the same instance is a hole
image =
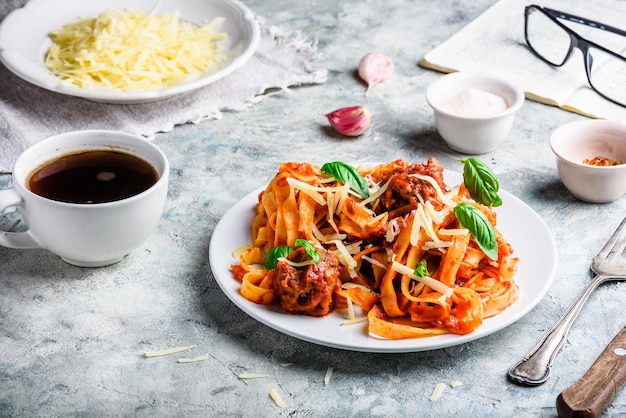
[[[544, 58], [539, 52], [535, 51], [535, 49], [533, 48], [532, 44], [530, 43], [530, 41], [528, 40], [528, 16], [530, 16], [531, 13], [534, 13], [536, 11], [539, 11], [541, 13], [543, 13], [545, 16], [547, 16], [550, 20], [552, 20], [556, 25], [558, 25], [561, 29], [563, 29], [570, 37], [570, 45], [569, 45], [569, 49], [567, 51], [567, 54], [565, 54], [565, 57], [563, 58], [563, 62], [561, 62], [560, 64], [555, 64], [549, 60], [547, 60], [546, 58]], [[592, 60], [590, 59], [589, 56], [589, 48], [593, 47], [596, 49], [601, 50], [602, 52], [609, 54], [617, 59], [620, 59], [622, 61], [624, 61], [626, 63], [626, 57], [611, 51], [610, 49], [607, 49], [601, 45], [596, 44], [595, 42], [592, 42], [588, 39], [583, 38], [582, 36], [580, 36], [578, 33], [576, 33], [575, 31], [573, 31], [571, 28], [569, 28], [568, 26], [564, 25], [563, 23], [559, 22], [558, 19], [563, 19], [563, 20], [567, 20], [569, 22], [574, 22], [574, 23], [578, 23], [580, 25], [585, 25], [585, 26], [589, 26], [595, 29], [600, 29], [600, 30], [605, 30], [607, 32], [611, 32], [614, 33], [616, 35], [621, 35], [626, 37], [626, 31], [613, 27], [613, 26], [609, 26], [606, 25], [604, 23], [600, 23], [600, 22], [596, 22], [590, 19], [586, 19], [583, 17], [579, 17], [579, 16], [575, 16], [575, 15], [571, 15], [569, 13], [565, 13], [565, 12], [560, 12], [558, 10], [554, 10], [554, 9], [550, 9], [547, 7], [541, 7], [541, 6], [537, 6], [537, 5], [530, 5], [530, 6], [526, 6], [525, 10], [524, 10], [524, 38], [526, 39], [526, 44], [528, 45], [528, 47], [530, 48], [530, 50], [532, 51], [533, 54], [535, 54], [539, 59], [541, 59], [543, 62], [553, 65], [555, 67], [561, 67], [563, 66], [571, 57], [572, 52], [574, 51], [574, 48], [578, 48], [582, 54], [583, 54], [583, 58], [585, 61], [585, 73], [587, 75], [587, 82], [589, 83], [589, 85], [591, 86], [591, 88], [598, 93], [600, 96], [604, 97], [605, 99], [620, 105], [620, 106], [624, 106], [626, 107], [626, 103], [621, 103], [618, 102], [610, 97], [607, 97], [605, 94], [603, 94], [602, 92], [598, 91], [598, 89], [596, 89], [596, 87], [593, 85], [593, 83], [591, 82], [591, 62]]]

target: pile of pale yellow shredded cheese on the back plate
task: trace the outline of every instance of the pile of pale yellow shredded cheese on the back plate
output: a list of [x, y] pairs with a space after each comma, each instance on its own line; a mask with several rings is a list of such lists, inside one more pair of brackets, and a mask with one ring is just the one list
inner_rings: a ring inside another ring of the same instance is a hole
[[226, 57], [217, 32], [223, 19], [204, 26], [159, 16], [105, 11], [49, 34], [44, 64], [66, 85], [111, 91], [155, 90], [191, 81]]

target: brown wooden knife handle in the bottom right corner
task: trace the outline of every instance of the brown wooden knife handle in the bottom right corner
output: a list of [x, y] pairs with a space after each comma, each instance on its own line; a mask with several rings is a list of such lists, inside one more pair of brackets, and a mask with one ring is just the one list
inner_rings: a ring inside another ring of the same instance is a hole
[[587, 373], [556, 399], [559, 417], [599, 417], [626, 381], [626, 327]]

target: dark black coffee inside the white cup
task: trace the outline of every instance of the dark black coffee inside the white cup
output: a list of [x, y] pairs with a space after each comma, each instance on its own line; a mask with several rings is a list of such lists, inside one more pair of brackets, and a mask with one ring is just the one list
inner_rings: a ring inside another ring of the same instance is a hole
[[159, 179], [147, 161], [125, 152], [89, 150], [63, 155], [35, 169], [28, 188], [69, 203], [104, 203], [139, 194]]

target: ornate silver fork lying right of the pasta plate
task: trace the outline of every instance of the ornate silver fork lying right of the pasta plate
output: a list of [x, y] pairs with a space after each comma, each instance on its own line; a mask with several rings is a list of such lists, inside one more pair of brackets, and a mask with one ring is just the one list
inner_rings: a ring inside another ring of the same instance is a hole
[[591, 270], [596, 274], [594, 279], [559, 321], [543, 336], [539, 344], [522, 360], [511, 366], [508, 372], [511, 380], [530, 386], [540, 385], [548, 380], [552, 362], [565, 343], [567, 333], [591, 293], [604, 282], [626, 280], [626, 257], [623, 256], [625, 247], [626, 218], [594, 258], [591, 265]]

